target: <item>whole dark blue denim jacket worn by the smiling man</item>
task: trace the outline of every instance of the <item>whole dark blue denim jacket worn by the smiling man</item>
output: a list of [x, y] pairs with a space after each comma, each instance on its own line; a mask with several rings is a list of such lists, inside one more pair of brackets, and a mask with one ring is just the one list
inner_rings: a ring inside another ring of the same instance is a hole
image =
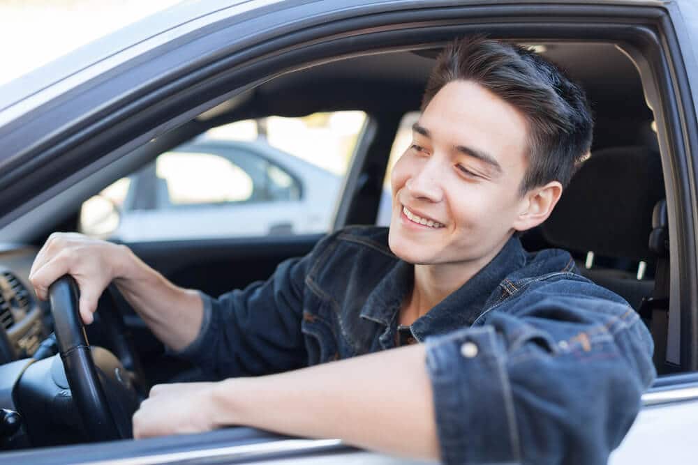
[[[512, 236], [410, 326], [444, 463], [604, 464], [621, 443], [655, 378], [653, 342], [623, 298], [575, 270], [567, 252], [530, 254]], [[349, 227], [265, 282], [204, 295], [181, 355], [222, 379], [390, 349], [412, 281], [387, 229]]]

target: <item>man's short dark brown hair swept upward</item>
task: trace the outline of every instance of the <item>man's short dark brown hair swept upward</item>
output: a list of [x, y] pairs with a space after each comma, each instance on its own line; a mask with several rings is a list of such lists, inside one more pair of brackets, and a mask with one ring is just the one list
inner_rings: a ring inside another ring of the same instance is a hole
[[528, 122], [528, 169], [519, 192], [560, 181], [566, 187], [591, 148], [593, 120], [584, 91], [535, 52], [466, 37], [438, 56], [422, 98], [422, 111], [449, 82], [477, 82], [513, 105]]

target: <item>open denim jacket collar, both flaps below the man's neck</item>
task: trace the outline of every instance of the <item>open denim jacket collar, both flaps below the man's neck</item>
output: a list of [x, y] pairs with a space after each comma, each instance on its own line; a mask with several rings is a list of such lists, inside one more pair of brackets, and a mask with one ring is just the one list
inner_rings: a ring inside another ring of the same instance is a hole
[[[489, 264], [459, 289], [442, 300], [412, 324], [419, 341], [459, 326], [470, 326], [482, 312], [487, 298], [507, 275], [526, 264], [526, 252], [518, 236], [512, 236]], [[390, 326], [399, 314], [403, 300], [412, 289], [414, 266], [399, 260], [369, 294], [361, 317]]]

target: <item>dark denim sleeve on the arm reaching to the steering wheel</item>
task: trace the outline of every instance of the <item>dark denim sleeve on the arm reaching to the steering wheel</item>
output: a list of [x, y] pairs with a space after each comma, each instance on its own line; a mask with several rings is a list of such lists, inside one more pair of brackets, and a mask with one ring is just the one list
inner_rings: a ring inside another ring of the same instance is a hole
[[301, 332], [305, 279], [334, 237], [322, 238], [305, 257], [283, 261], [266, 281], [218, 298], [201, 293], [204, 317], [199, 334], [174, 355], [190, 360], [213, 379], [305, 366]]

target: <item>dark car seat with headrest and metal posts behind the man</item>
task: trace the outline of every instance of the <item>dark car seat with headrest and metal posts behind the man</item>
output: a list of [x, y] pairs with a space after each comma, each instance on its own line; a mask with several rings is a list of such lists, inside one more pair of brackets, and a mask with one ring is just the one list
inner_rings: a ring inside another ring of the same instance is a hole
[[[643, 273], [637, 267], [645, 267], [648, 275], [655, 269], [656, 253], [648, 244], [653, 210], [664, 196], [657, 151], [644, 146], [595, 151], [542, 224], [542, 236], [579, 257], [581, 274], [639, 310], [643, 299], [653, 295], [654, 281], [639, 279]], [[582, 264], [589, 252], [605, 266]]]

